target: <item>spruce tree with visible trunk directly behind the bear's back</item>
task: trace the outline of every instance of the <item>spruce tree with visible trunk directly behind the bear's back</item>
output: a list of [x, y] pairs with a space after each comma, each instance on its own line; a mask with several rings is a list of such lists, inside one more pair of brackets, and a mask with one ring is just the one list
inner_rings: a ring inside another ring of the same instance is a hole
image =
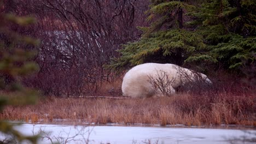
[[143, 31], [140, 40], [124, 45], [121, 57], [114, 58], [109, 67], [122, 70], [126, 67], [147, 63], [174, 63], [182, 65], [189, 56], [205, 48], [203, 37], [189, 31], [184, 14], [195, 9], [184, 1], [152, 1], [148, 20], [149, 27], [139, 27]]

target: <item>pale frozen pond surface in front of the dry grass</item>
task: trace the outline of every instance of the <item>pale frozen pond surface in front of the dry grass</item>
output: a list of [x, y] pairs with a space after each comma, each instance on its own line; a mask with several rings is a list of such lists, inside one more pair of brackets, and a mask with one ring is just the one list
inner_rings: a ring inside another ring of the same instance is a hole
[[[170, 128], [170, 127], [117, 127], [81, 125], [22, 124], [16, 129], [26, 135], [37, 134], [69, 143], [255, 143], [256, 130]], [[3, 135], [1, 139], [3, 139]], [[89, 138], [88, 138], [89, 137]], [[254, 142], [251, 140], [254, 139]], [[50, 143], [45, 139], [40, 143]]]

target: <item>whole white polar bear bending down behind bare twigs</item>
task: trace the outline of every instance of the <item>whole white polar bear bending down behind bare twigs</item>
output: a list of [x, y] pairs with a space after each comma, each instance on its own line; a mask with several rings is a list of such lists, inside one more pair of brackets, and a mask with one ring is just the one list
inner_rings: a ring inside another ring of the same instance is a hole
[[144, 63], [127, 71], [121, 88], [125, 97], [162, 97], [166, 95], [164, 92], [174, 94], [175, 88], [197, 78], [211, 83], [206, 75], [175, 64]]

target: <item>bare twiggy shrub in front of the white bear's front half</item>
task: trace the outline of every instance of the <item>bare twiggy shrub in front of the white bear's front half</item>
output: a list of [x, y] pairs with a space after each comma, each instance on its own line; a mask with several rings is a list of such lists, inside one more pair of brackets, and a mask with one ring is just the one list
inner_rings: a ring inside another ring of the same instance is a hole
[[[170, 96], [177, 92], [205, 93], [211, 90], [210, 80], [201, 73], [182, 67], [173, 66], [177, 70], [176, 75], [170, 76], [166, 71], [158, 70], [156, 76], [149, 75], [149, 82], [156, 92]], [[173, 89], [175, 88], [175, 90]]]

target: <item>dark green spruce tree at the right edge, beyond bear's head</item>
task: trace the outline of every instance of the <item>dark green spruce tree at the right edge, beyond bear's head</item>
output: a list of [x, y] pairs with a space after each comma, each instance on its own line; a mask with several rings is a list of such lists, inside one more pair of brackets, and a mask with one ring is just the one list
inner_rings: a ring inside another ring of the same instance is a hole
[[[255, 63], [256, 5], [251, 0], [214, 0], [203, 3], [191, 15], [206, 51], [194, 53], [186, 62], [215, 62], [223, 69], [242, 70]], [[202, 61], [204, 59], [204, 61]]]

